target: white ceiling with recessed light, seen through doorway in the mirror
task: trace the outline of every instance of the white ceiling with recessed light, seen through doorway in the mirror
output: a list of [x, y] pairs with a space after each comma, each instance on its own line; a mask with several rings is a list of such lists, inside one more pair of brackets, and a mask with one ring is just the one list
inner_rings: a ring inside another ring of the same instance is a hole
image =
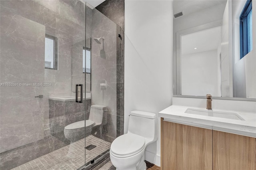
[[217, 49], [220, 37], [220, 26], [186, 34], [181, 37], [181, 53], [185, 55]]

